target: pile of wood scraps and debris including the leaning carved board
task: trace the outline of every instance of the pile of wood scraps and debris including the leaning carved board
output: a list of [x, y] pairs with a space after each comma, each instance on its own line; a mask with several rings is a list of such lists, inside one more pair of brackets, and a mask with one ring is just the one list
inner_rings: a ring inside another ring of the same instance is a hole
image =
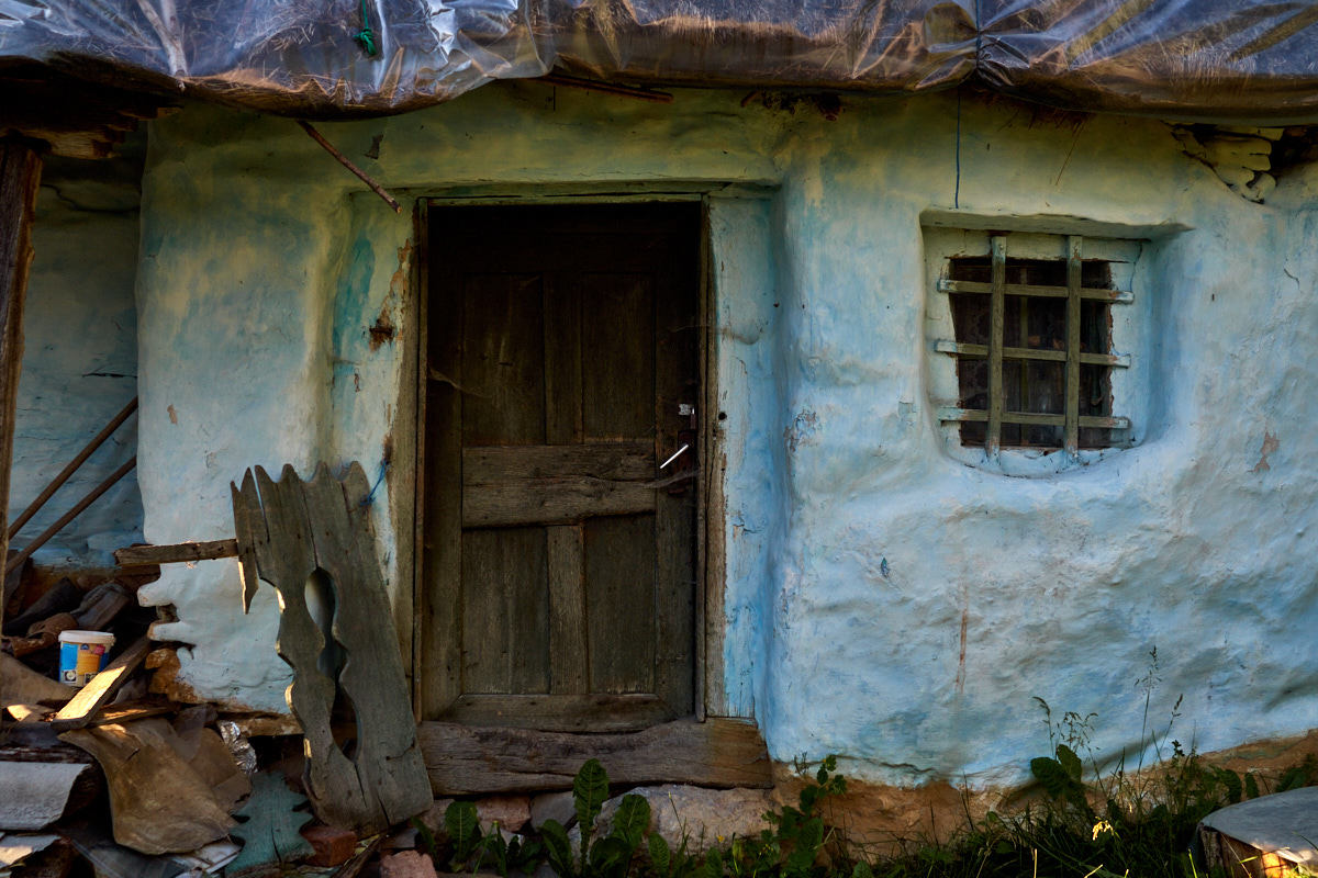
[[[291, 469], [274, 480], [257, 469], [233, 498], [236, 540], [137, 548], [120, 562], [236, 555], [248, 600], [275, 587], [270, 659], [293, 669], [291, 716], [181, 698], [177, 657], [153, 652], [156, 615], [133, 599], [158, 566], [47, 587], [16, 570], [0, 646], [0, 878], [66, 878], [87, 865], [105, 878], [353, 878], [411, 862], [399, 858], [419, 844], [409, 820], [434, 799], [372, 554], [365, 475], [353, 465], [340, 480], [322, 466], [306, 482]], [[312, 574], [335, 590], [324, 627], [306, 607]], [[57, 681], [59, 633], [74, 629], [116, 638], [82, 688]], [[353, 661], [322, 661], [335, 650]]]

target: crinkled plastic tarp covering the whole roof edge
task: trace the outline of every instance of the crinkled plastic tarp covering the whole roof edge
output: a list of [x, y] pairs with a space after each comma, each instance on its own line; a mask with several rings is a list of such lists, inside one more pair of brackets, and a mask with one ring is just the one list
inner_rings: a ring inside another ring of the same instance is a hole
[[1281, 124], [1318, 121], [1315, 24], [1311, 0], [0, 0], [0, 66], [308, 117], [559, 66]]

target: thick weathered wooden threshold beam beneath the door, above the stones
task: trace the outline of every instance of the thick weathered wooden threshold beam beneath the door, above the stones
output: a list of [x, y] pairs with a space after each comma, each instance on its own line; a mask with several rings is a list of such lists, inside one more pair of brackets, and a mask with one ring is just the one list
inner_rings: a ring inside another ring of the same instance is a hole
[[592, 757], [618, 785], [772, 786], [764, 738], [743, 720], [680, 720], [630, 735], [422, 723], [418, 737], [435, 795], [568, 790]]

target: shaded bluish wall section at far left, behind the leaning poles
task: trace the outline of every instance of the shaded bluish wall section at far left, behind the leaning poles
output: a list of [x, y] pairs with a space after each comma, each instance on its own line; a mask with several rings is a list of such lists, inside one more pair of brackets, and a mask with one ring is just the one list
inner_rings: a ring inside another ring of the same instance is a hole
[[[13, 438], [9, 520], [137, 394], [138, 200], [145, 137], [105, 162], [47, 158], [37, 196], [24, 313], [25, 348]], [[137, 450], [129, 419], [20, 530], [34, 537]], [[33, 562], [104, 569], [115, 549], [141, 542], [142, 504], [129, 473], [74, 519]]]

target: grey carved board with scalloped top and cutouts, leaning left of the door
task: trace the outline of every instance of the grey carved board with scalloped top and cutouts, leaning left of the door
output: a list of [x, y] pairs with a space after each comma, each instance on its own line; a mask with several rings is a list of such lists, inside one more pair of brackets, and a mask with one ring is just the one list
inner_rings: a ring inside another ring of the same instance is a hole
[[[431, 804], [416, 746], [407, 682], [366, 500], [370, 486], [353, 463], [339, 482], [322, 463], [310, 482], [285, 466], [275, 482], [261, 467], [233, 487], [233, 521], [244, 563], [244, 603], [254, 577], [279, 592], [277, 649], [294, 673], [289, 707], [307, 746], [307, 794], [316, 816], [361, 835], [381, 832]], [[337, 682], [318, 667], [326, 638], [307, 607], [314, 575], [332, 586], [335, 645], [347, 654]], [[357, 719], [348, 758], [330, 729], [337, 688]]]

